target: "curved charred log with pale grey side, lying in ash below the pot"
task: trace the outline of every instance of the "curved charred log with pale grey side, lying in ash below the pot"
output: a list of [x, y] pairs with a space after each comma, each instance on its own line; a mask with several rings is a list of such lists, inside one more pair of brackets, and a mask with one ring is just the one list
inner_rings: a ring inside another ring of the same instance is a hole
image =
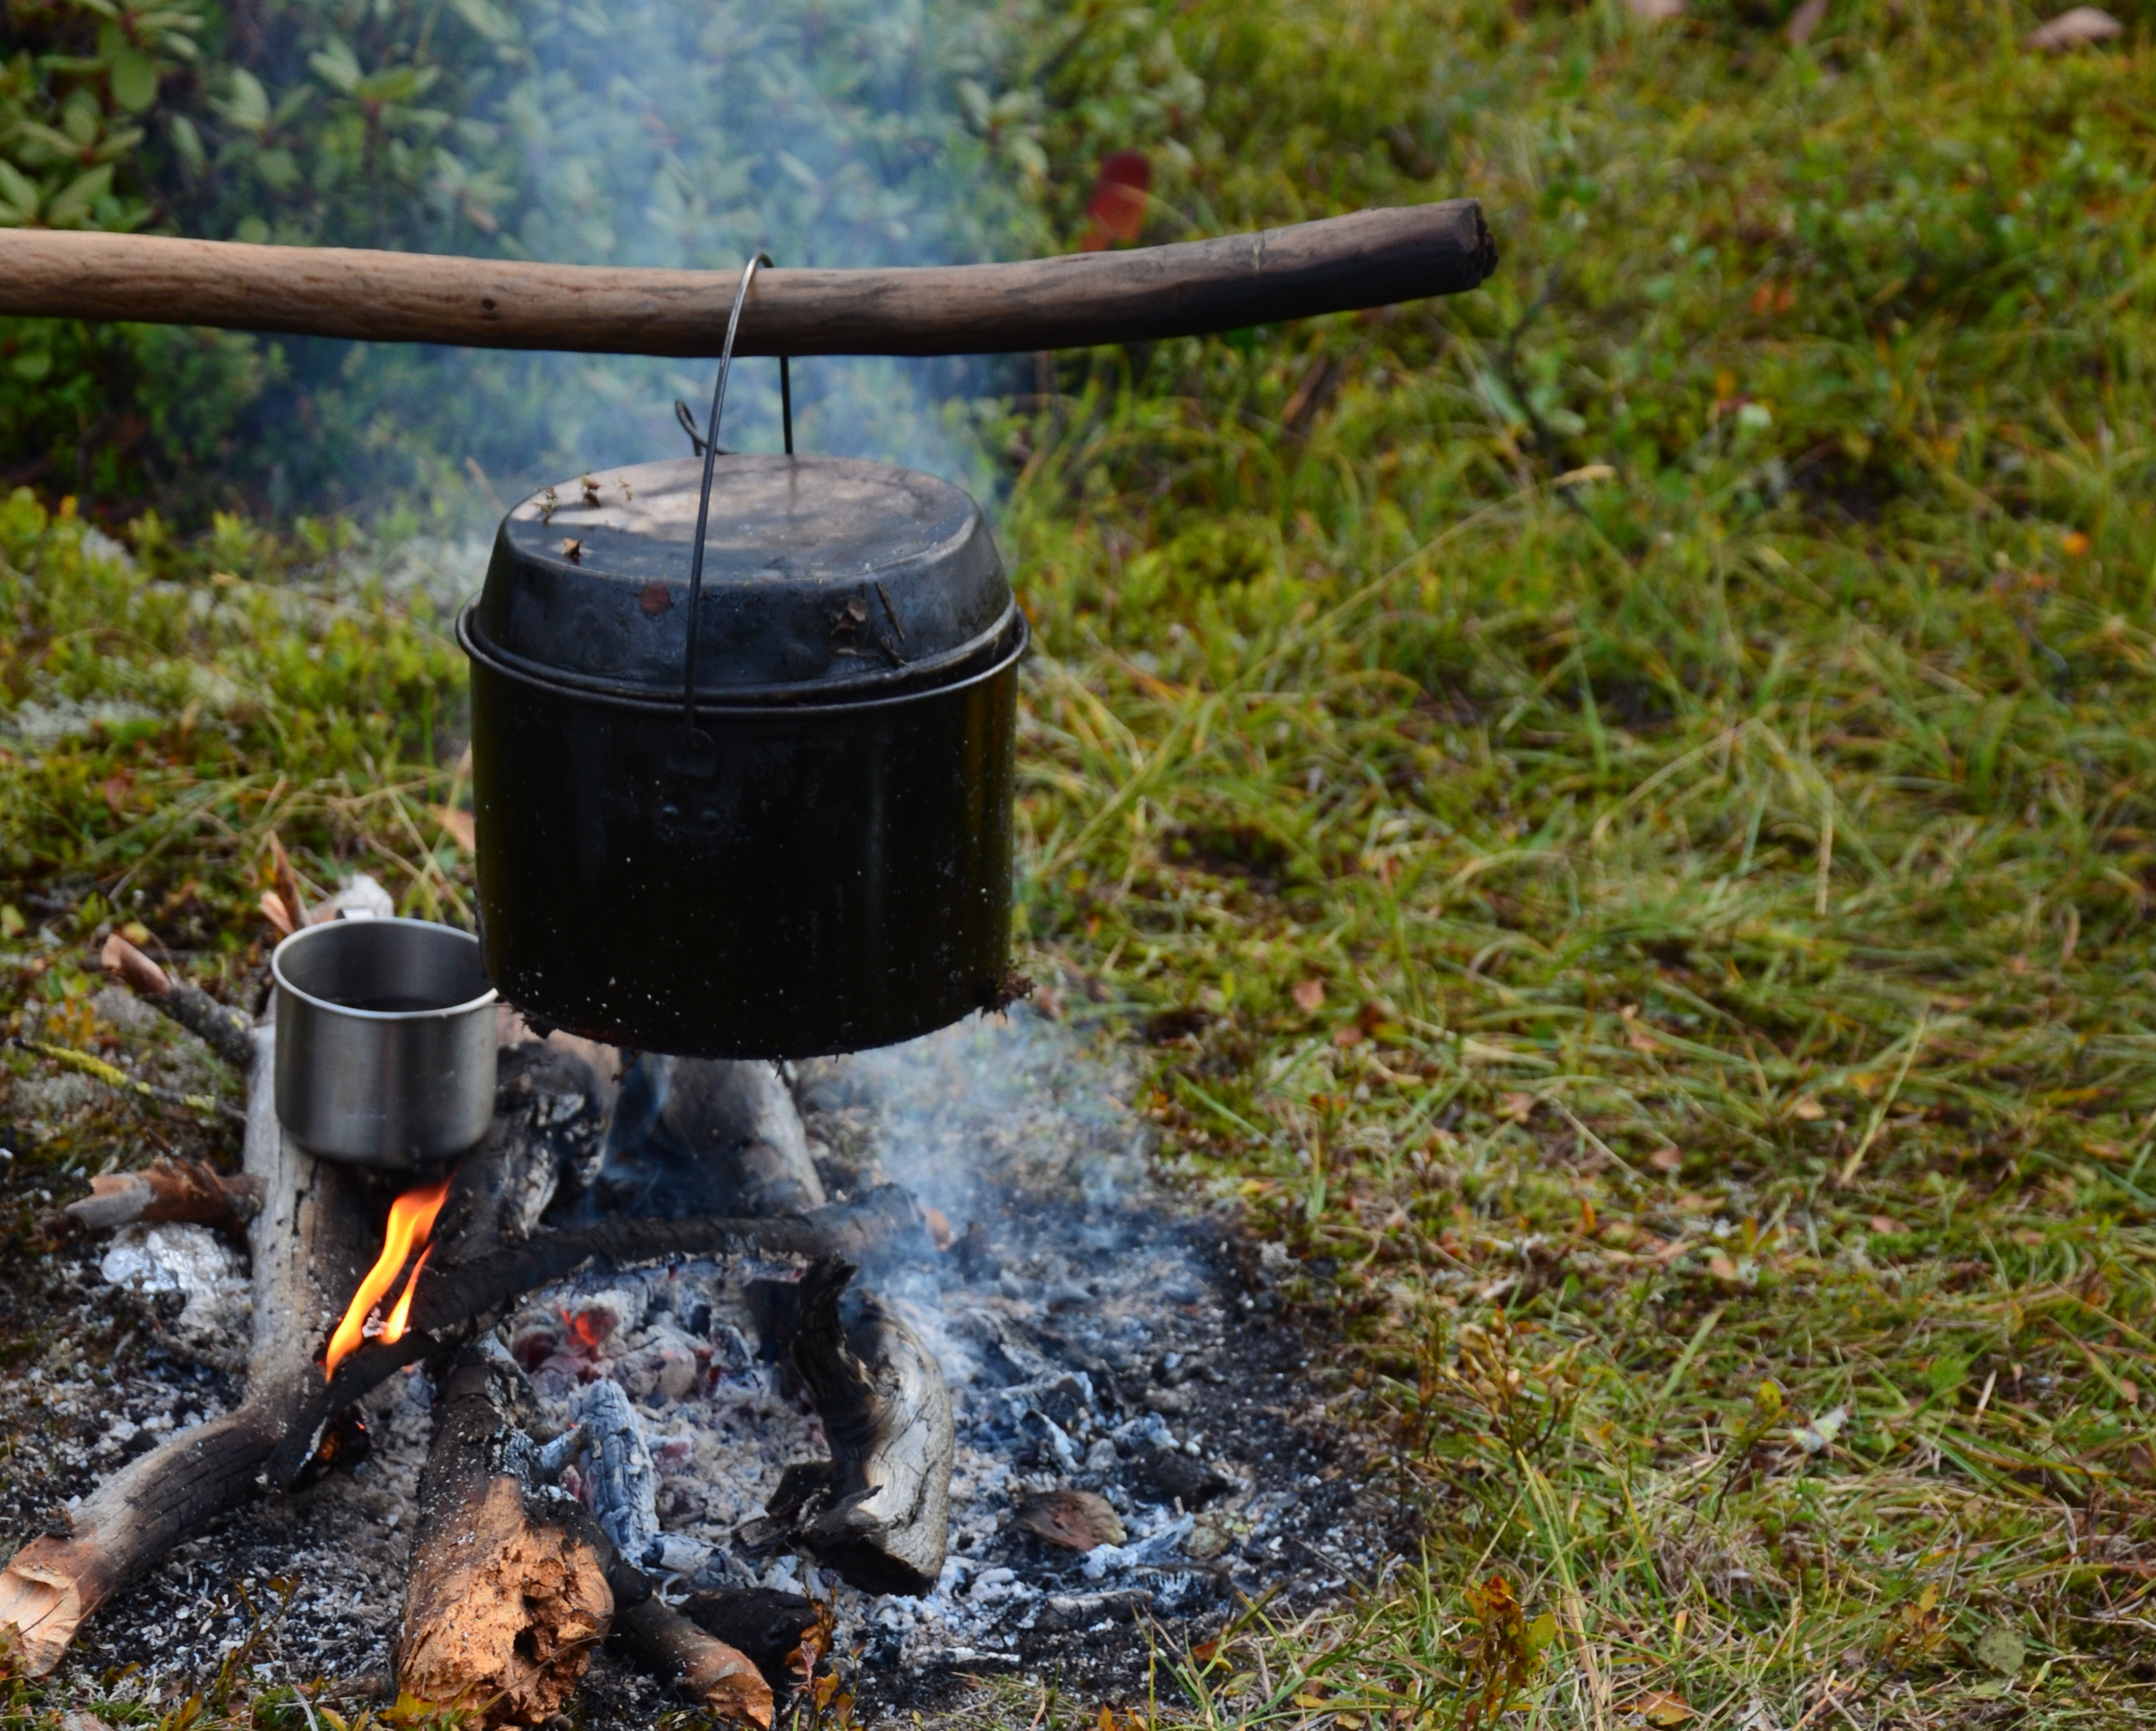
[[757, 1537], [783, 1533], [867, 1593], [929, 1593], [951, 1526], [951, 1388], [897, 1311], [847, 1293], [852, 1278], [843, 1257], [819, 1257], [791, 1293], [755, 1289], [830, 1440], [828, 1462], [785, 1470]]

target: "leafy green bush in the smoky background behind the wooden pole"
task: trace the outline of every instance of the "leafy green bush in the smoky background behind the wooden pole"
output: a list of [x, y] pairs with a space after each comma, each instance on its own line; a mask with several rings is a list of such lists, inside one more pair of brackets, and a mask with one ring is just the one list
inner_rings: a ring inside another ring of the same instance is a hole
[[[0, 224], [565, 263], [1050, 248], [1104, 140], [1156, 142], [1203, 99], [1147, 9], [1097, 0], [32, 0], [0, 54]], [[177, 522], [446, 509], [675, 451], [668, 403], [703, 388], [701, 366], [22, 319], [0, 362], [0, 479]], [[934, 416], [888, 420], [914, 401], [890, 371], [804, 369], [804, 435], [934, 442]]]

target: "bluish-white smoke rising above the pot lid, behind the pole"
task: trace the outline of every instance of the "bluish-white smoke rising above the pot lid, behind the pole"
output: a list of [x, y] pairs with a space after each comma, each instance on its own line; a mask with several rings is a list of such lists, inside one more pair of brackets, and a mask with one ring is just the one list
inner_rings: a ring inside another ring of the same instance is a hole
[[[461, 112], [438, 138], [433, 203], [511, 257], [731, 276], [759, 248], [778, 265], [923, 265], [1037, 241], [1024, 172], [979, 125], [1009, 30], [985, 0], [451, 0], [438, 13]], [[403, 444], [427, 444], [451, 489], [472, 483], [481, 517], [591, 468], [686, 455], [673, 403], [701, 423], [714, 377], [681, 360], [295, 356], [317, 377], [334, 364], [347, 476], [382, 487], [410, 470]], [[979, 494], [992, 470], [953, 399], [1000, 377], [998, 362], [800, 360], [796, 448]], [[722, 444], [778, 448], [776, 362], [737, 364]]]

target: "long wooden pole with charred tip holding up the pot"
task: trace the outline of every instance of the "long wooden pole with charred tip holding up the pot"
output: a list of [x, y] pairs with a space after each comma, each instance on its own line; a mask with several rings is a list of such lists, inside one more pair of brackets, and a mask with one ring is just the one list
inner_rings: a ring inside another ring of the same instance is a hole
[[[1496, 267], [1481, 205], [1358, 211], [1257, 235], [1015, 265], [768, 269], [735, 354], [1015, 354], [1151, 343], [1453, 295]], [[716, 356], [735, 272], [0, 233], [0, 313], [362, 343]], [[298, 916], [300, 910], [291, 910]]]

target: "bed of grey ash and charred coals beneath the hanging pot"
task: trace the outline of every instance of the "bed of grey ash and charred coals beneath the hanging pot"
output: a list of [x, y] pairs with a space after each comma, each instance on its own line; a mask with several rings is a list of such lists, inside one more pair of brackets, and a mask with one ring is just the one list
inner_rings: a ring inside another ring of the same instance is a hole
[[[934, 1705], [994, 1671], [1121, 1697], [1145, 1684], [1153, 1625], [1199, 1638], [1244, 1595], [1382, 1571], [1388, 1509], [1358, 1498], [1263, 1261], [1153, 1188], [1117, 1078], [1054, 1024], [981, 1022], [787, 1076], [584, 1056], [608, 1084], [604, 1134], [550, 1227], [899, 1183], [934, 1242], [858, 1272], [593, 1270], [498, 1330], [533, 1436], [573, 1438], [561, 1483], [690, 1617], [718, 1615], [750, 1656], [759, 1619], [815, 1630], [871, 1705]], [[106, 1265], [125, 1276], [123, 1250]], [[216, 1390], [188, 1399], [207, 1414]], [[198, 1671], [257, 1628], [272, 1675], [386, 1679], [429, 1399], [425, 1373], [392, 1377], [369, 1399], [369, 1459], [175, 1552], [71, 1664]], [[259, 1619], [272, 1578], [295, 1587]], [[791, 1638], [772, 1636], [774, 1660]], [[660, 1701], [608, 1658], [584, 1699], [586, 1718]]]

